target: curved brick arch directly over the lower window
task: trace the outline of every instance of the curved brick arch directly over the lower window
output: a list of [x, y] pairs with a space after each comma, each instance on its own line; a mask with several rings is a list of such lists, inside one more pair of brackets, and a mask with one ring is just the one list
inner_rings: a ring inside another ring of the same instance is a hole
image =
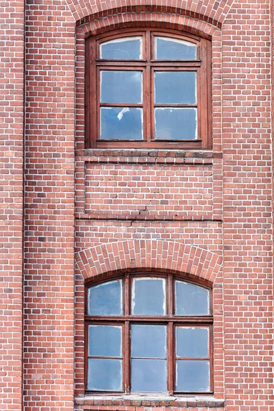
[[213, 284], [221, 269], [221, 256], [179, 242], [129, 240], [101, 244], [79, 251], [77, 268], [84, 279], [96, 279], [108, 273], [127, 270], [184, 273], [199, 282]]

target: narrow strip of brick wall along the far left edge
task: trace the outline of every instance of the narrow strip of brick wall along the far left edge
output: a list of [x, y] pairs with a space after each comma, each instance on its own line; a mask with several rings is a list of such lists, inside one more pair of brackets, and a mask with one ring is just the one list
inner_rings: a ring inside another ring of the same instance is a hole
[[22, 403], [24, 2], [0, 2], [0, 410]]

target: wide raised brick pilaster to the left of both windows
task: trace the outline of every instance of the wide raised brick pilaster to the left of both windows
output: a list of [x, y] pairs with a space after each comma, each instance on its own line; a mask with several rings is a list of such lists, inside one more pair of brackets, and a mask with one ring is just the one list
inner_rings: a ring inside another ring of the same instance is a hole
[[27, 5], [25, 411], [73, 409], [74, 49], [65, 1]]

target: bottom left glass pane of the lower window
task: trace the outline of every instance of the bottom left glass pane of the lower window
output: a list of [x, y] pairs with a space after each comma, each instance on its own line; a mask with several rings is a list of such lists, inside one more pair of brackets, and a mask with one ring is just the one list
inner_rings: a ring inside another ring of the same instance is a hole
[[88, 358], [88, 390], [121, 391], [122, 360]]

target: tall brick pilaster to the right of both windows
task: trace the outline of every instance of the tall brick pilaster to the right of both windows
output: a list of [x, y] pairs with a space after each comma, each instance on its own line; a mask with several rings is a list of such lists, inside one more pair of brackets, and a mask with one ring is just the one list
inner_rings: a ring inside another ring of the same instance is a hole
[[269, 1], [234, 2], [223, 25], [226, 410], [273, 408]]

